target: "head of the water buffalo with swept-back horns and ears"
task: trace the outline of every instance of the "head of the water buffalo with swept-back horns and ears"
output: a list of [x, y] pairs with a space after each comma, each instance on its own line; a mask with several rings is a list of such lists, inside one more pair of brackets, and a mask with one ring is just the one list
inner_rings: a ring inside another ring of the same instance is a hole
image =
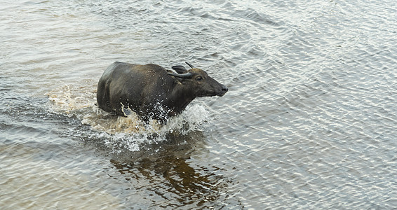
[[180, 83], [187, 85], [195, 97], [222, 97], [227, 92], [227, 87], [218, 83], [217, 80], [208, 76], [206, 71], [195, 68], [188, 62], [191, 69], [187, 70], [184, 66], [173, 66], [177, 73], [168, 72], [170, 76], [175, 76]]

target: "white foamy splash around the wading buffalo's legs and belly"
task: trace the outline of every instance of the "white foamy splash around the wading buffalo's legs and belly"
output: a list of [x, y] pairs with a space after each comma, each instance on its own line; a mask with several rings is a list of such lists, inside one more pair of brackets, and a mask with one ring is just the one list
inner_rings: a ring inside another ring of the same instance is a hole
[[165, 141], [166, 135], [172, 132], [186, 135], [191, 131], [201, 130], [203, 123], [209, 117], [208, 111], [203, 106], [193, 104], [179, 116], [168, 119], [164, 125], [160, 125], [157, 120], [149, 120], [149, 123], [145, 123], [130, 109], [126, 117], [113, 116], [102, 111], [95, 105], [95, 93], [94, 85], [89, 87], [62, 85], [46, 95], [50, 102], [50, 111], [76, 117], [83, 125], [90, 126], [93, 132], [88, 134], [89, 138], [102, 139], [105, 146], [111, 148], [113, 153], [126, 149], [140, 151], [140, 145]]

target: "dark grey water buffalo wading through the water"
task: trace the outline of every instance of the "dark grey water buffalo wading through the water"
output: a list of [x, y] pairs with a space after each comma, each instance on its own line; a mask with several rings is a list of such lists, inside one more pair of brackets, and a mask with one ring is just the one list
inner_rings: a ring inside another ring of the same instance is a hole
[[196, 97], [222, 97], [227, 87], [208, 76], [206, 71], [172, 66], [177, 73], [156, 64], [114, 62], [97, 85], [100, 109], [126, 116], [126, 108], [143, 120], [166, 120], [180, 114]]

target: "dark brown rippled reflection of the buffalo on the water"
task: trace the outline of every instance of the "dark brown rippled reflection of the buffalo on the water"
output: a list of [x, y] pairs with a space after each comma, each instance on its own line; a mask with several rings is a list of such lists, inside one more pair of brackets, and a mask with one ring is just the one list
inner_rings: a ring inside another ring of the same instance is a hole
[[134, 183], [143, 179], [149, 182], [146, 188], [153, 193], [151, 196], [163, 199], [152, 207], [216, 207], [227, 181], [212, 172], [220, 169], [190, 165], [190, 154], [203, 147], [199, 145], [203, 140], [202, 137], [197, 138], [199, 136], [189, 135], [184, 144], [177, 144], [181, 140], [178, 138], [155, 146], [148, 145], [150, 148], [143, 152], [130, 154], [132, 158], [126, 158], [126, 153], [123, 153], [123, 158], [114, 157], [112, 163], [128, 181], [132, 179]]

